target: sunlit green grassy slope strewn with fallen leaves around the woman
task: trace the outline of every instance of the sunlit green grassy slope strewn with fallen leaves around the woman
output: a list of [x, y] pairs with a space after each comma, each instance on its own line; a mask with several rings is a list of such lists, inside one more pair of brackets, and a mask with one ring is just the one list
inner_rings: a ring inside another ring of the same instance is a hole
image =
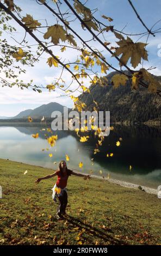
[[[24, 172], [28, 173], [24, 175]], [[53, 173], [0, 159], [0, 244], [3, 245], [160, 245], [161, 207], [156, 195], [105, 180], [71, 176], [67, 216], [57, 221], [52, 201]]]

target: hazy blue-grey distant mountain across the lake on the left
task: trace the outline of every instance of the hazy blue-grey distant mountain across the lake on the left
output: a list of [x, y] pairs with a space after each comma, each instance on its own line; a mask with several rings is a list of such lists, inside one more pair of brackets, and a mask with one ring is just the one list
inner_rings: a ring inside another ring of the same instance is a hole
[[53, 111], [60, 111], [61, 113], [63, 113], [63, 110], [64, 106], [60, 105], [57, 102], [51, 102], [35, 109], [27, 109], [25, 111], [22, 111], [15, 117], [13, 117], [13, 119], [27, 118], [28, 116], [32, 118], [42, 118], [43, 116], [51, 118], [51, 114]]

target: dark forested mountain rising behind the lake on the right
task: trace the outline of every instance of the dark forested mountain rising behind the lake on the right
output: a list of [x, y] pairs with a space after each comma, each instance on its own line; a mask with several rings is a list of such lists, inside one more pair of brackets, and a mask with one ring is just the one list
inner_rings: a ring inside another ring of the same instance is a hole
[[[108, 84], [111, 84], [112, 77], [117, 72], [111, 72], [108, 76]], [[161, 82], [160, 76], [154, 76]], [[99, 111], [110, 111], [111, 122], [146, 122], [150, 120], [161, 120], [161, 97], [147, 92], [147, 89], [140, 87], [132, 90], [127, 82], [126, 86], [115, 89], [112, 85], [101, 87], [91, 86], [91, 95], [84, 93], [80, 95], [81, 101], [86, 104], [86, 109], [92, 111], [95, 100], [98, 103]]]

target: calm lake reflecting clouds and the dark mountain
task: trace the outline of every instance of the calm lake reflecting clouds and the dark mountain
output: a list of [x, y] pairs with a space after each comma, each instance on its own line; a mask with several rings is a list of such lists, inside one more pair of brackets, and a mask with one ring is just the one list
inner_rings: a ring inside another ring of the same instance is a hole
[[[60, 160], [69, 155], [67, 165], [70, 169], [82, 173], [133, 182], [157, 188], [161, 185], [161, 130], [159, 127], [145, 125], [120, 126], [115, 125], [114, 130], [106, 137], [100, 153], [93, 154], [95, 139], [87, 143], [80, 143], [75, 132], [57, 131], [55, 147], [51, 148], [45, 139], [46, 131], [43, 127], [27, 124], [26, 126], [0, 126], [0, 158], [18, 162], [30, 163], [38, 166], [57, 169]], [[39, 138], [34, 139], [33, 133], [39, 132]], [[51, 133], [48, 133], [51, 135]], [[122, 138], [120, 147], [116, 141]], [[46, 150], [48, 148], [49, 150]], [[45, 151], [42, 151], [45, 149]], [[49, 154], [53, 154], [49, 157]], [[107, 157], [113, 153], [113, 157]], [[91, 159], [94, 158], [94, 161]], [[79, 168], [83, 162], [83, 168]], [[132, 169], [129, 169], [132, 166]], [[102, 172], [100, 172], [100, 170]], [[21, 172], [21, 170], [20, 170]], [[101, 174], [102, 173], [102, 174]], [[43, 176], [42, 171], [42, 176]]]

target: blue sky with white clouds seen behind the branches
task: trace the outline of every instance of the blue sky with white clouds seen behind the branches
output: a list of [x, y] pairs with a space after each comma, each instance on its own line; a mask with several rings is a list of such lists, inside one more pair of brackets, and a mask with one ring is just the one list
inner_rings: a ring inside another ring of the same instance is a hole
[[[63, 0], [61, 1], [63, 3]], [[72, 2], [72, 1], [71, 1]], [[137, 9], [138, 13], [140, 14], [141, 18], [145, 22], [148, 28], [151, 28], [155, 22], [161, 19], [161, 1], [154, 0], [154, 1], [147, 1], [147, 0], [139, 0], [139, 1], [132, 1], [135, 8]], [[40, 22], [44, 22], [43, 20], [47, 17], [48, 25], [54, 25], [55, 20], [51, 14], [48, 14], [48, 11], [44, 6], [38, 5], [35, 0], [15, 0], [15, 3], [23, 9], [23, 15], [26, 14], [33, 15], [34, 19], [39, 20]], [[49, 4], [53, 7], [52, 0], [48, 1]], [[84, 3], [84, 1], [82, 1]], [[141, 25], [140, 21], [137, 19], [134, 11], [132, 10], [131, 6], [129, 5], [127, 0], [89, 0], [86, 6], [92, 8], [97, 8], [98, 11], [95, 14], [97, 18], [100, 19], [102, 15], [106, 15], [108, 17], [113, 18], [112, 25], [118, 30], [122, 30], [126, 33], [143, 33], [145, 32], [145, 28]], [[62, 10], [66, 10], [66, 5], [63, 3], [61, 5]], [[15, 34], [16, 40], [22, 40], [24, 36], [24, 32], [22, 28], [18, 27], [16, 23], [13, 23], [17, 29], [17, 33]], [[109, 23], [107, 23], [109, 25]], [[75, 21], [72, 23], [72, 27], [76, 29], [76, 31], [84, 38], [88, 39], [88, 35], [85, 31], [80, 29], [79, 22]], [[161, 22], [158, 22], [153, 29], [158, 29], [161, 27]], [[11, 44], [15, 44], [15, 42], [9, 38], [7, 34], [3, 34]], [[147, 36], [144, 36], [139, 41], [146, 42]], [[30, 39], [27, 36], [29, 42], [34, 44], [34, 40]], [[132, 39], [137, 41], [139, 37], [133, 36]], [[112, 42], [112, 45], [116, 45], [114, 40], [114, 36], [112, 33], [108, 33], [106, 36], [106, 40]], [[145, 62], [145, 68], [149, 68], [150, 66], [157, 67], [153, 69], [151, 72], [156, 75], [161, 75], [161, 57], [158, 56], [158, 45], [161, 43], [161, 36], [160, 33], [156, 35], [154, 38], [152, 35], [148, 39], [148, 60], [149, 62]], [[100, 51], [103, 48], [97, 43], [92, 42], [91, 46], [99, 48]], [[64, 53], [60, 53], [58, 51], [58, 47], [52, 49], [55, 55], [60, 56], [63, 59], [71, 59], [75, 60], [76, 52], [73, 51], [66, 51]], [[114, 58], [111, 58], [108, 53], [103, 52], [104, 56], [106, 56], [109, 63], [113, 64], [116, 68], [119, 68], [118, 63], [115, 61]], [[59, 68], [49, 68], [46, 64], [48, 56], [44, 54], [40, 59], [40, 62], [34, 66], [34, 68], [26, 68], [27, 72], [25, 75], [22, 75], [24, 81], [29, 81], [33, 79], [36, 84], [43, 84], [46, 86], [48, 83], [51, 83], [54, 77], [58, 77], [60, 75], [61, 70]], [[141, 66], [140, 66], [141, 67]], [[137, 67], [137, 69], [139, 66]], [[109, 72], [112, 70], [109, 70]], [[67, 72], [65, 72], [63, 76], [66, 83], [70, 83], [71, 78]], [[89, 86], [89, 81], [86, 81], [85, 86]], [[64, 106], [72, 107], [73, 103], [69, 97], [60, 97], [60, 92], [51, 92], [48, 93], [43, 92], [42, 94], [38, 94], [33, 92], [32, 90], [20, 90], [18, 88], [2, 88], [0, 87], [0, 116], [13, 116], [23, 111], [24, 109], [28, 108], [35, 108], [42, 104], [47, 104], [49, 102], [59, 102]]]

